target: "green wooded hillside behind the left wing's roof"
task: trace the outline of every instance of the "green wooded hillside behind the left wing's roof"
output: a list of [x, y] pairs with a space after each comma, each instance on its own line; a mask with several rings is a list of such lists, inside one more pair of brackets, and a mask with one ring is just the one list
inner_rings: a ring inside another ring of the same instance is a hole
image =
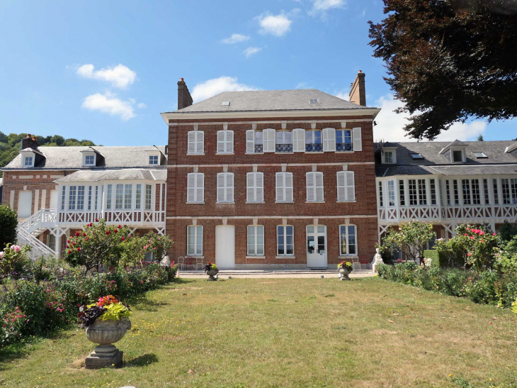
[[[21, 150], [21, 140], [27, 133], [9, 133], [8, 135], [0, 132], [0, 168], [11, 162]], [[65, 139], [59, 135], [36, 136], [40, 147], [72, 147], [80, 145], [95, 145], [90, 140], [77, 140], [74, 138]], [[0, 171], [0, 177], [2, 172]]]

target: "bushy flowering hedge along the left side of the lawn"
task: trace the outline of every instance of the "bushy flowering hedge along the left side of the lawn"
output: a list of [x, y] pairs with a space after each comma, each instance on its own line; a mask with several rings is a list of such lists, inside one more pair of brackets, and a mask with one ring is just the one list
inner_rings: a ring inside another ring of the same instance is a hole
[[82, 304], [108, 294], [123, 300], [141, 296], [171, 282], [176, 272], [176, 267], [151, 264], [89, 277], [54, 272], [39, 284], [30, 280], [8, 283], [0, 294], [0, 348], [72, 326]]

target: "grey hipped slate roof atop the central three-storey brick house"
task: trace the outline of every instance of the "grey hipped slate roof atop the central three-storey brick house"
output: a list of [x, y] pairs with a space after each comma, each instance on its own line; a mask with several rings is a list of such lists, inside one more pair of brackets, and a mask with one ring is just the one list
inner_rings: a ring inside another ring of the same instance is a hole
[[[318, 99], [319, 104], [310, 104]], [[221, 105], [229, 101], [229, 105]], [[369, 109], [317, 89], [252, 90], [222, 92], [186, 108], [168, 113], [235, 112], [235, 111], [302, 111], [327, 109]]]

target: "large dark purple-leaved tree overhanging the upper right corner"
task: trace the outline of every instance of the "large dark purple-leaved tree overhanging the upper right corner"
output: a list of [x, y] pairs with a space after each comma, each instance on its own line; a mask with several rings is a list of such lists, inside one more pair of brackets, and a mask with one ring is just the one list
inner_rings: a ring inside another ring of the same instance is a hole
[[515, 0], [383, 0], [370, 23], [374, 57], [409, 112], [411, 138], [432, 140], [455, 122], [517, 114]]

